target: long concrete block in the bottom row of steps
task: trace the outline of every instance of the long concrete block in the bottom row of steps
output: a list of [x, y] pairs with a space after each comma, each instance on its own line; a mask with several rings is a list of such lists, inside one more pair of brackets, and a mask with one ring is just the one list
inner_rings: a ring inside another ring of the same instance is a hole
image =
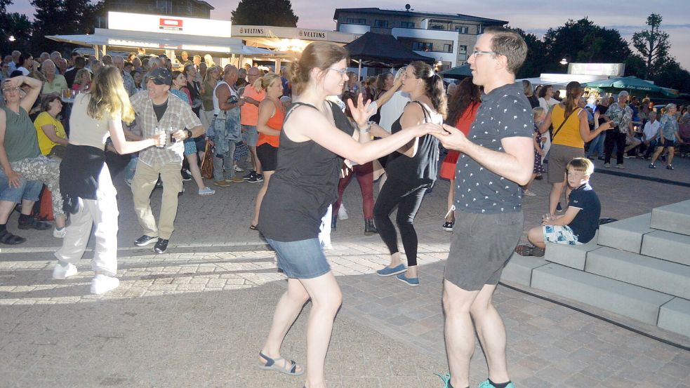
[[661, 305], [673, 299], [646, 288], [550, 263], [532, 272], [533, 288], [656, 325]]

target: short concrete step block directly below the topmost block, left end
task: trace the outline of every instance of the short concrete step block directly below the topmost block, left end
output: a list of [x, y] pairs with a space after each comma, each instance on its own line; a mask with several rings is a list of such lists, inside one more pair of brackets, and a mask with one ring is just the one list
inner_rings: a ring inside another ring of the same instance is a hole
[[609, 246], [632, 253], [639, 253], [642, 236], [653, 232], [649, 228], [651, 213], [637, 215], [599, 227], [599, 245]]

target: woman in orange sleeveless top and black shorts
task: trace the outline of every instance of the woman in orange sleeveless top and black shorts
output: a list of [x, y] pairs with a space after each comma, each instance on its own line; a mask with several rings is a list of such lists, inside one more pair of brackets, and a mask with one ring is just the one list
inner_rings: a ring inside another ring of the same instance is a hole
[[256, 123], [256, 129], [259, 132], [259, 140], [256, 142], [256, 156], [263, 170], [263, 186], [256, 194], [254, 219], [251, 221], [251, 225], [249, 225], [249, 229], [256, 230], [256, 224], [259, 222], [261, 201], [266, 194], [268, 182], [278, 163], [280, 130], [283, 128], [285, 108], [280, 102], [281, 95], [283, 95], [283, 83], [278, 74], [266, 74], [254, 83], [254, 88], [266, 92], [266, 97], [259, 104], [259, 118]]

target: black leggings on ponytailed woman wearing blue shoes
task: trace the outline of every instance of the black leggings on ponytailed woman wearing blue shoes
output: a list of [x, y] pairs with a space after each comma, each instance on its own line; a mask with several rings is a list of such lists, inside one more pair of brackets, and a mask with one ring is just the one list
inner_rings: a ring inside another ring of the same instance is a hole
[[402, 246], [405, 248], [408, 267], [417, 265], [417, 232], [413, 222], [428, 187], [428, 184], [411, 187], [409, 183], [388, 178], [373, 206], [373, 218], [378, 235], [381, 236], [391, 255], [398, 252], [398, 236], [393, 222], [390, 221], [390, 213], [393, 212], [395, 206], [398, 207], [395, 221], [402, 236]]

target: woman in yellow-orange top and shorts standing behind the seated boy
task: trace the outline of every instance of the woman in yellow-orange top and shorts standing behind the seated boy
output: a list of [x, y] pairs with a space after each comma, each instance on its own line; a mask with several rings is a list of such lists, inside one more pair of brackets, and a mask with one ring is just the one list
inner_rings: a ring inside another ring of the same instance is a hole
[[[553, 125], [548, 163], [549, 183], [552, 185], [551, 194], [549, 194], [549, 214], [551, 215], [556, 213], [557, 203], [563, 193], [566, 184], [566, 166], [569, 161], [583, 158], [585, 142], [589, 142], [602, 131], [611, 128], [611, 123], [603, 123], [595, 131], [590, 131], [587, 112], [578, 107], [582, 92], [579, 82], [568, 83], [565, 100], [551, 108], [539, 128], [540, 133], [545, 133]], [[570, 189], [567, 189], [566, 198], [569, 194]], [[566, 203], [568, 203], [567, 200]]]

